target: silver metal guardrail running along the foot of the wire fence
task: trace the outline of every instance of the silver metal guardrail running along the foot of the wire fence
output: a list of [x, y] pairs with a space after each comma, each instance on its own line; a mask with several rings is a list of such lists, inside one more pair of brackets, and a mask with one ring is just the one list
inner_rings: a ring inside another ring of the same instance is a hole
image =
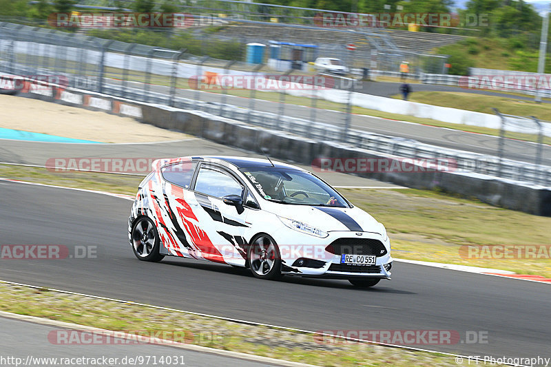
[[[106, 85], [108, 94], [121, 95], [120, 85]], [[136, 101], [141, 101], [142, 90], [134, 89], [127, 96], [132, 96]], [[167, 105], [169, 96], [161, 93], [150, 95], [152, 103]], [[216, 102], [196, 101], [191, 98], [176, 97], [174, 107], [181, 109], [200, 110], [217, 116], [238, 121], [246, 121], [251, 125], [266, 129], [280, 130], [298, 136], [304, 136], [320, 141], [339, 141], [343, 134], [343, 127], [312, 122], [302, 118], [280, 116], [269, 112], [249, 111], [247, 108], [237, 107]], [[368, 149], [384, 154], [400, 157], [415, 157], [426, 159], [450, 159], [455, 160], [457, 171], [475, 172], [488, 176], [508, 178], [510, 180], [537, 183], [551, 187], [551, 167], [536, 165], [528, 162], [508, 160], [498, 156], [488, 156], [457, 149], [435, 147], [417, 140], [396, 138], [373, 134], [365, 130], [349, 129], [344, 143], [349, 143], [361, 149]]]

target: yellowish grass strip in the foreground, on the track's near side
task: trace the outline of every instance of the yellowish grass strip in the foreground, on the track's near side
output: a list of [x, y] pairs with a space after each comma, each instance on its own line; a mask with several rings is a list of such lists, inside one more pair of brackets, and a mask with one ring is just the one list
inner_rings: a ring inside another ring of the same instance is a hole
[[[319, 366], [457, 366], [455, 357], [369, 343], [342, 343], [313, 333], [252, 326], [149, 306], [98, 300], [0, 282], [0, 310], [122, 331], [160, 333], [169, 341], [232, 350]], [[43, 335], [43, 342], [48, 334]], [[98, 346], [98, 349], [104, 348]], [[136, 350], [140, 346], [136, 345]]]

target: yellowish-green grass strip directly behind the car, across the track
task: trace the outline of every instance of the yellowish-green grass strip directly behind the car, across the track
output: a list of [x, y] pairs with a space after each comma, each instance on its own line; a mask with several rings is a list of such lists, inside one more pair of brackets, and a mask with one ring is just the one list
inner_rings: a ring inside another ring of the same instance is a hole
[[[141, 176], [51, 172], [0, 165], [0, 177], [134, 195]], [[341, 189], [358, 207], [384, 223], [396, 258], [446, 262], [551, 277], [551, 260], [461, 258], [463, 245], [551, 244], [551, 218], [532, 216], [438, 191]]]

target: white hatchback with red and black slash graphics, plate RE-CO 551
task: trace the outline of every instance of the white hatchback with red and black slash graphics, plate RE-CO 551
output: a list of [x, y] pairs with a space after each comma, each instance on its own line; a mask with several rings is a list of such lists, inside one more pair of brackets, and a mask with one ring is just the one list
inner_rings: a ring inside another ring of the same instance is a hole
[[264, 279], [329, 277], [360, 287], [391, 279], [384, 226], [304, 169], [222, 156], [152, 166], [128, 220], [140, 260], [171, 255], [249, 268]]

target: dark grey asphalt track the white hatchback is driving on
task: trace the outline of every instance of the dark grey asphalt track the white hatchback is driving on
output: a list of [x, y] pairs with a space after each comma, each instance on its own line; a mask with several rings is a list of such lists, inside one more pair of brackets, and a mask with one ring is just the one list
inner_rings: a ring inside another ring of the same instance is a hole
[[[359, 290], [342, 280], [262, 281], [196, 260], [141, 262], [127, 242], [131, 201], [7, 181], [0, 190], [3, 244], [98, 249], [89, 259], [0, 260], [2, 280], [310, 331], [457, 331], [463, 342], [419, 347], [464, 355], [549, 352], [548, 284], [395, 263], [393, 280]], [[466, 343], [467, 331], [487, 344]]]

